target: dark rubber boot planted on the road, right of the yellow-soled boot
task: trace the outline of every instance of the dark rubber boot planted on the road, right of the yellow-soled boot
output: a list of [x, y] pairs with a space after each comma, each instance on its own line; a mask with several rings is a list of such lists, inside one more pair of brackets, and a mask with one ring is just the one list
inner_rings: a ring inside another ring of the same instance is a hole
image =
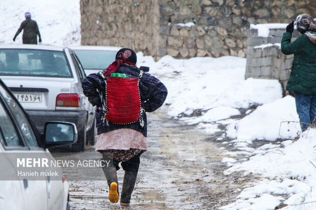
[[130, 203], [130, 196], [134, 190], [136, 178], [137, 178], [137, 172], [125, 171], [123, 187], [122, 187], [122, 192], [121, 192], [122, 204]]

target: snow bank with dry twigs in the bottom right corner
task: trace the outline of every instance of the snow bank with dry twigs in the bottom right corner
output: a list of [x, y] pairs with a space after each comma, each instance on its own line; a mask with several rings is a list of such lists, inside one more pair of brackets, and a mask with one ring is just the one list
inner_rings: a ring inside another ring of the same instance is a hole
[[[284, 141], [227, 169], [225, 174], [242, 171], [244, 175], [260, 175], [262, 179], [255, 186], [245, 188], [234, 203], [220, 209], [274, 209], [281, 201], [287, 205], [282, 209], [316, 209], [315, 136], [316, 129], [307, 130], [297, 141]], [[287, 199], [282, 195], [288, 195]], [[258, 208], [262, 196], [265, 197], [262, 206], [266, 208]]]

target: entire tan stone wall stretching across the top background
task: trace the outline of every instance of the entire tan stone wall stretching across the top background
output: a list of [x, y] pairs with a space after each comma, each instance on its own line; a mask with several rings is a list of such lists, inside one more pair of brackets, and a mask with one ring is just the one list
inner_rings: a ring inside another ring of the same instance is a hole
[[308, 0], [81, 0], [82, 45], [130, 47], [156, 59], [246, 57], [250, 23], [316, 16]]

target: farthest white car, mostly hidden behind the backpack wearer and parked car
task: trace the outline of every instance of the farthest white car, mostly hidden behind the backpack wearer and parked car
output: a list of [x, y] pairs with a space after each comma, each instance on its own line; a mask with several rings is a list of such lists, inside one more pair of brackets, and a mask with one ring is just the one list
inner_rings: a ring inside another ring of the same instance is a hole
[[87, 75], [108, 68], [115, 61], [115, 55], [121, 47], [111, 46], [69, 46], [85, 69]]

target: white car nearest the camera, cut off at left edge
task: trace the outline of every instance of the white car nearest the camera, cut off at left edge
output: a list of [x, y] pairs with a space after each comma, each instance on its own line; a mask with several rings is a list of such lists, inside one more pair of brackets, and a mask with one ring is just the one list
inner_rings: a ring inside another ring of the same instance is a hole
[[[44, 135], [33, 126], [28, 114], [23, 110], [4, 82], [0, 79], [0, 210], [68, 210], [69, 185], [61, 171], [52, 177], [45, 174], [27, 176], [21, 171], [34, 168], [19, 165], [17, 160], [27, 157], [41, 157], [52, 160], [49, 147], [74, 143], [77, 140], [73, 123], [47, 122]], [[18, 159], [19, 158], [19, 159]], [[21, 167], [20, 167], [21, 166]]]

